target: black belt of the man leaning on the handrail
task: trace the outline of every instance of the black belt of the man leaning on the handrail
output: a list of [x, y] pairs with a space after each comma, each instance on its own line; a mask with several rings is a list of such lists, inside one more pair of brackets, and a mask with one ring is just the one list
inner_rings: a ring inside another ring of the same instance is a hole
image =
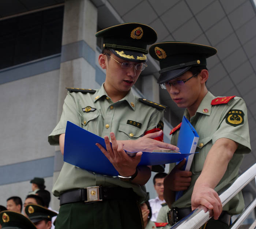
[[[168, 222], [170, 225], [176, 224], [179, 220], [187, 216], [191, 213], [191, 207], [185, 208], [172, 208], [168, 213]], [[230, 224], [231, 215], [227, 214], [227, 211], [222, 211], [221, 215], [219, 216], [218, 220], [229, 225]]]

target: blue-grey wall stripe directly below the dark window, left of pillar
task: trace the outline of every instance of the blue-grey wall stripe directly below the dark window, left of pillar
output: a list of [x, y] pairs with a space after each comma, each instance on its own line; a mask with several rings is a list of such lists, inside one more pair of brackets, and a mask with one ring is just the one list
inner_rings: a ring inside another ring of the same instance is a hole
[[44, 72], [50, 72], [59, 68], [60, 54], [56, 54], [40, 60], [0, 70], [0, 84], [38, 75]]

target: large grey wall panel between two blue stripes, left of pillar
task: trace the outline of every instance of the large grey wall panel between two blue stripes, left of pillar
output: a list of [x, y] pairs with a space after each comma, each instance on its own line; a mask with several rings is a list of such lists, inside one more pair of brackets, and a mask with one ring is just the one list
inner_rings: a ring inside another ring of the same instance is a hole
[[54, 156], [58, 89], [59, 70], [0, 85], [0, 166]]

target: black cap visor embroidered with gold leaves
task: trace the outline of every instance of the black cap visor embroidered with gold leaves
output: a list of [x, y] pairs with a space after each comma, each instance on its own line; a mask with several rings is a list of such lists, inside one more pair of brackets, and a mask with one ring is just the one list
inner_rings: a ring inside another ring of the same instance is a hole
[[133, 62], [146, 62], [147, 56], [146, 54], [139, 53], [136, 51], [130, 50], [121, 50], [121, 49], [110, 49], [110, 51], [117, 57], [126, 60], [126, 61], [133, 61]]

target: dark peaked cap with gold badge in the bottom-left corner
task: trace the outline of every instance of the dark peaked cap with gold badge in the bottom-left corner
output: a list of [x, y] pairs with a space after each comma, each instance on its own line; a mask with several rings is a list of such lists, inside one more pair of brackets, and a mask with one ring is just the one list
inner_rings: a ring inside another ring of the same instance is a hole
[[25, 215], [15, 211], [1, 211], [0, 224], [2, 229], [37, 229]]

